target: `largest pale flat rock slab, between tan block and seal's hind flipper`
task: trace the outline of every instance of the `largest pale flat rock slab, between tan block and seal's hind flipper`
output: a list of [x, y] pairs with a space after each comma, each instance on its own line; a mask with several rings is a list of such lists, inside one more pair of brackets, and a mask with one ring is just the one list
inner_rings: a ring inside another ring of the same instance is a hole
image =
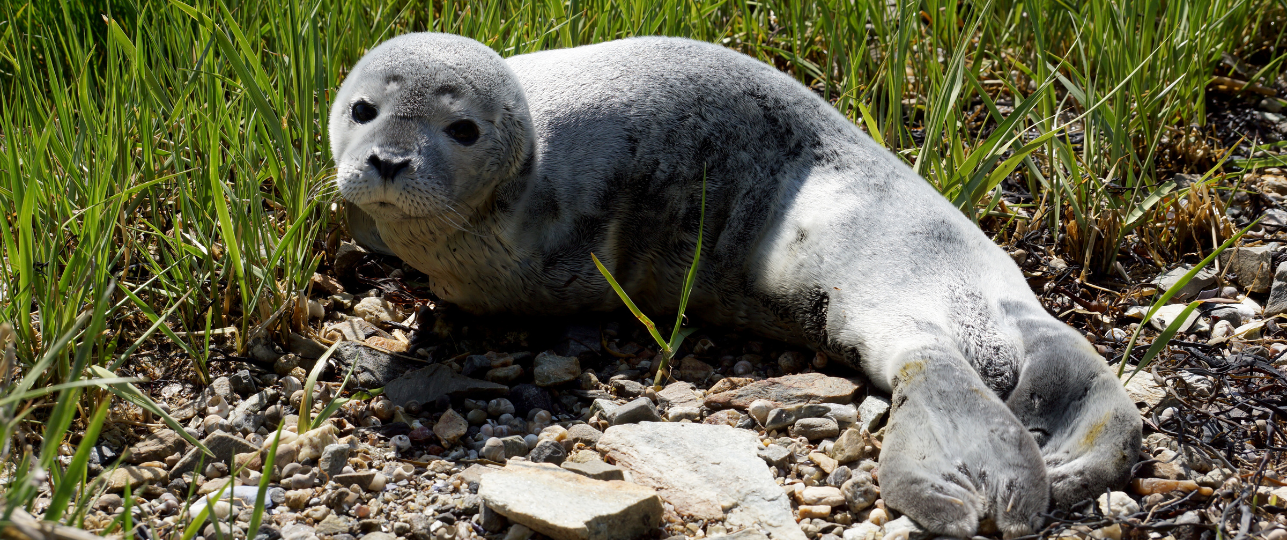
[[613, 426], [597, 446], [682, 516], [722, 519], [728, 528], [755, 528], [773, 540], [804, 540], [750, 431], [649, 422]]

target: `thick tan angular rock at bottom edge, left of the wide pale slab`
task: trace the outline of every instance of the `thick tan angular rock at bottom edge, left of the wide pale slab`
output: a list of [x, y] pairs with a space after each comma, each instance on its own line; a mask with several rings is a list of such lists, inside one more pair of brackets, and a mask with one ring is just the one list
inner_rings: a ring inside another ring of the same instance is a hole
[[663, 513], [651, 489], [553, 465], [506, 467], [483, 477], [479, 495], [489, 509], [555, 540], [632, 540]]

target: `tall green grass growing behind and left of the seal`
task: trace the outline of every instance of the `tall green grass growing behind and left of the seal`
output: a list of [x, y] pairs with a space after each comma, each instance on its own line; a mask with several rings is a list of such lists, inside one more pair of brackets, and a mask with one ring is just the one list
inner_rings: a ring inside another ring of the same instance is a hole
[[[1174, 172], [1215, 166], [1172, 150], [1206, 121], [1221, 54], [1278, 77], [1265, 28], [1283, 15], [1277, 0], [3, 3], [0, 462], [22, 464], [5, 501], [32, 504], [41, 469], [66, 507], [50, 516], [77, 523], [84, 460], [54, 458], [113, 396], [151, 406], [127, 386], [151, 373], [131, 361], [143, 347], [202, 381], [211, 330], [236, 329], [230, 348], [290, 330], [274, 315], [335, 221], [328, 99], [386, 37], [448, 31], [503, 55], [725, 44], [817, 90], [999, 238], [1045, 230], [1103, 273], [1133, 238], [1171, 260], [1220, 242], [1160, 219], [1207, 197]], [[1006, 179], [1033, 199], [1003, 203]]]

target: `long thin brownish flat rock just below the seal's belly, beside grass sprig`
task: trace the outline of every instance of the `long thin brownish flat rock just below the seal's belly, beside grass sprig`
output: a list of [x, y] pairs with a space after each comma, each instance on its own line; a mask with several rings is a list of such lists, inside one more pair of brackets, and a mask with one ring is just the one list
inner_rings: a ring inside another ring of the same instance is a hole
[[803, 404], [848, 404], [861, 387], [849, 379], [821, 373], [798, 373], [757, 381], [726, 392], [707, 396], [713, 409], [745, 409], [755, 400], [768, 400], [777, 406]]

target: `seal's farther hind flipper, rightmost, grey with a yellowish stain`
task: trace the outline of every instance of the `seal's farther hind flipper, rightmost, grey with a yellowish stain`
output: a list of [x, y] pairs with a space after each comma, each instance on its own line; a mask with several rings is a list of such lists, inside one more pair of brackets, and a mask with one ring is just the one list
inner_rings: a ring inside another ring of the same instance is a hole
[[1143, 422], [1122, 383], [1072, 328], [1040, 324], [1023, 337], [1027, 357], [1006, 405], [1041, 446], [1055, 504], [1124, 486]]

